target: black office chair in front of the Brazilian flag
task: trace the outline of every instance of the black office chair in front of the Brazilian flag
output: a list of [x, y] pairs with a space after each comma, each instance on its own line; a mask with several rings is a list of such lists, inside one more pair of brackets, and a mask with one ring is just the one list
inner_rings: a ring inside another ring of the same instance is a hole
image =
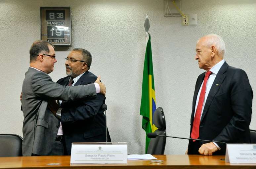
[[[162, 107], [158, 107], [154, 111], [153, 122], [158, 129], [154, 133], [166, 135], [166, 123]], [[166, 137], [151, 138], [148, 147], [148, 154], [162, 155], [164, 154]]]

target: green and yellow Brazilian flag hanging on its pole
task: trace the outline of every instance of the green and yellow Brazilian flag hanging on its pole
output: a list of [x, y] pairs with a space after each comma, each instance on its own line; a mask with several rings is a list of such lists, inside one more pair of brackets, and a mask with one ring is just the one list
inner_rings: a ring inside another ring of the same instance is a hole
[[156, 109], [155, 105], [155, 87], [154, 87], [154, 75], [152, 64], [152, 51], [150, 43], [150, 34], [147, 34], [147, 47], [145, 53], [143, 81], [142, 81], [142, 97], [141, 97], [141, 110], [140, 115], [142, 118], [142, 128], [146, 131], [146, 154], [149, 147], [150, 138], [147, 134], [154, 132], [157, 127], [153, 123], [153, 113]]

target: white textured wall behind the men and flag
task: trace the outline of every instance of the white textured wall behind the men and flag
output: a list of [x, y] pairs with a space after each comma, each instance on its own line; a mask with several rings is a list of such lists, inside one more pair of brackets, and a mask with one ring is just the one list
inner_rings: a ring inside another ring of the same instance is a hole
[[[19, 96], [29, 66], [29, 47], [40, 38], [40, 6], [70, 6], [72, 47], [88, 49], [91, 71], [107, 86], [108, 127], [113, 142], [128, 142], [128, 153], [142, 154], [145, 132], [139, 115], [145, 52], [145, 15], [149, 14], [156, 104], [164, 109], [167, 134], [189, 137], [192, 96], [203, 72], [194, 60], [196, 40], [216, 33], [226, 42], [225, 60], [246, 71], [256, 93], [256, 1], [182, 0], [184, 13], [198, 24], [183, 26], [181, 17], [164, 17], [162, 0], [1, 0], [0, 133], [22, 135]], [[65, 76], [58, 49], [54, 81]], [[250, 127], [256, 129], [253, 100]], [[165, 154], [184, 154], [188, 141], [167, 139]]]

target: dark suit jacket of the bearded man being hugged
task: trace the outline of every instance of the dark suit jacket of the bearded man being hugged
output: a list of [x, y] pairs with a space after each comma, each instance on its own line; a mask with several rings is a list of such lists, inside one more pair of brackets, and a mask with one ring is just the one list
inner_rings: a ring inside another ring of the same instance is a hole
[[[87, 71], [74, 86], [94, 83], [96, 79], [97, 76]], [[57, 83], [67, 85], [68, 81], [67, 76], [58, 80]], [[61, 123], [68, 155], [71, 153], [73, 142], [106, 142], [106, 122], [102, 109], [105, 99], [104, 95], [97, 94], [93, 99], [62, 102]], [[111, 142], [108, 131], [107, 137], [108, 142]]]

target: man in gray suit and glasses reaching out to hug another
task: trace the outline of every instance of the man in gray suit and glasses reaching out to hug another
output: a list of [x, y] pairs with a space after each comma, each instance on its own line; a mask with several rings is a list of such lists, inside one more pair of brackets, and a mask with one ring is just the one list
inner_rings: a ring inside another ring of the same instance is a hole
[[[53, 82], [48, 73], [53, 71], [57, 60], [54, 46], [49, 42], [33, 42], [29, 54], [30, 67], [22, 85], [22, 154], [63, 155], [63, 145], [56, 139], [59, 120], [50, 111], [48, 101], [93, 98], [97, 93], [105, 95], [105, 85], [100, 82], [100, 77], [95, 83], [84, 86], [62, 86]], [[57, 113], [61, 110], [58, 109]]]

